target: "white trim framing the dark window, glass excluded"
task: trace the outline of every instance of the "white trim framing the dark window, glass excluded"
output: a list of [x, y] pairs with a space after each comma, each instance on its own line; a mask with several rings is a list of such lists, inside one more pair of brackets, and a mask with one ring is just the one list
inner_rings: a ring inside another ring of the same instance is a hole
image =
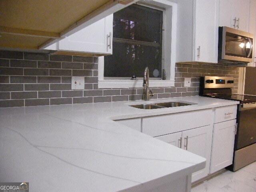
[[[176, 30], [177, 30], [177, 4], [168, 0], [152, 0], [144, 6], [163, 8], [163, 36], [162, 36], [162, 66], [166, 70], [166, 80], [150, 79], [150, 87], [174, 86], [176, 63]], [[157, 9], [157, 8], [156, 8]], [[171, 21], [171, 22], [167, 22]], [[175, 37], [175, 38], [172, 38]], [[168, 43], [170, 42], [170, 43]], [[172, 50], [172, 51], [171, 51]], [[142, 80], [104, 79], [104, 56], [98, 61], [98, 88], [140, 88]]]

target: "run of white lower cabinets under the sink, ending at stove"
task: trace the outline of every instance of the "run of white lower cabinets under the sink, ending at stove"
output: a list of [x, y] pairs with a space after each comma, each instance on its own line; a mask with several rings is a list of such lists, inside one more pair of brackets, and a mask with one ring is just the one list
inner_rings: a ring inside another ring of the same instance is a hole
[[232, 105], [118, 122], [206, 158], [206, 167], [192, 174], [195, 182], [232, 164], [236, 110]]

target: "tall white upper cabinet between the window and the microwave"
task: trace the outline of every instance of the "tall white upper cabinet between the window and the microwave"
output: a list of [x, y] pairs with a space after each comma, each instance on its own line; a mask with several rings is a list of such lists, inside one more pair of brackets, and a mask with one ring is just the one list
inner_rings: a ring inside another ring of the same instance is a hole
[[218, 6], [218, 0], [178, 1], [176, 62], [218, 62]]

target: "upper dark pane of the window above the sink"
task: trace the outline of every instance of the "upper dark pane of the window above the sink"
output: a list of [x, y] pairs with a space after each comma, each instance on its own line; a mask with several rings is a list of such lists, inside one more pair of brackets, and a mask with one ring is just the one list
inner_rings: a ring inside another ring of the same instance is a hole
[[114, 13], [113, 37], [160, 44], [162, 11], [131, 5]]

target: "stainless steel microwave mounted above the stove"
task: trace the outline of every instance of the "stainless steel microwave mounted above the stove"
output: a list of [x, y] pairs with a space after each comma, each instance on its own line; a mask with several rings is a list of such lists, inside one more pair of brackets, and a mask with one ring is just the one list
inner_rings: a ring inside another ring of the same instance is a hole
[[218, 62], [244, 64], [253, 62], [253, 34], [229, 27], [219, 27]]

